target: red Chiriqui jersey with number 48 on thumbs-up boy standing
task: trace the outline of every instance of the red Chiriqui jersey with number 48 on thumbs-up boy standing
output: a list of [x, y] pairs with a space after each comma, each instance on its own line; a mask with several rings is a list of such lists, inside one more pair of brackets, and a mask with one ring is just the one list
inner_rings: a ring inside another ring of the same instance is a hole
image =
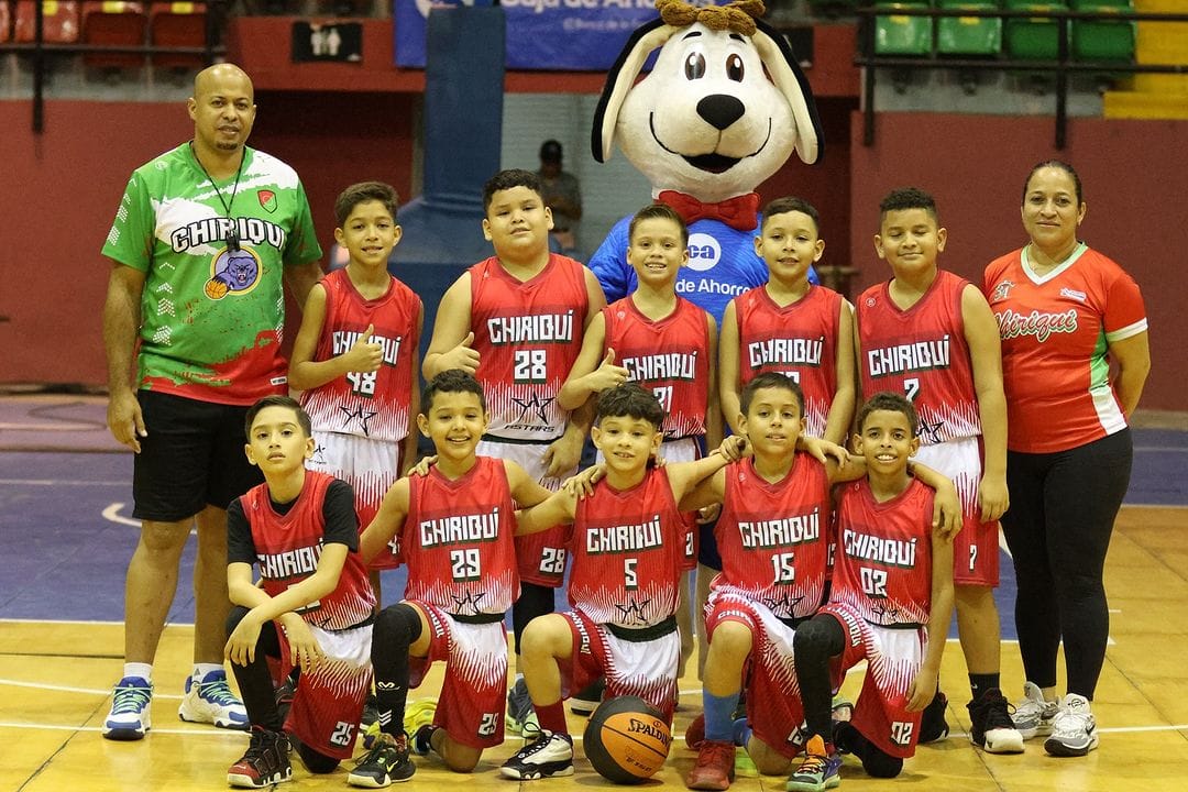
[[372, 341], [383, 347], [384, 362], [375, 372], [348, 372], [305, 391], [302, 406], [318, 431], [398, 443], [407, 437], [411, 422], [409, 406], [416, 387], [412, 356], [421, 343], [421, 298], [392, 278], [383, 297], [365, 299], [346, 270], [335, 270], [321, 283], [326, 289], [326, 322], [314, 360], [348, 351], [373, 324]]

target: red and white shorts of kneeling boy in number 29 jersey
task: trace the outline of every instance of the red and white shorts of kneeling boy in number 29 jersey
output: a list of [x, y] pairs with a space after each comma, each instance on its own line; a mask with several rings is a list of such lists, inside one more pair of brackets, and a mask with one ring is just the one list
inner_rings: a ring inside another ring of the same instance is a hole
[[470, 748], [491, 748], [504, 741], [507, 707], [507, 629], [498, 621], [459, 621], [441, 608], [406, 601], [424, 614], [432, 633], [429, 654], [409, 658], [409, 686], [418, 688], [437, 660], [446, 663], [446, 678], [434, 726], [446, 729], [455, 742]]

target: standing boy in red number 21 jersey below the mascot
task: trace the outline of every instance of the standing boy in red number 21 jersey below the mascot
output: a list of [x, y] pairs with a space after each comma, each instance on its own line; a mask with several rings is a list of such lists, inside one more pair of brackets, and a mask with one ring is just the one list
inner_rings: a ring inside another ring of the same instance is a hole
[[[662, 203], [644, 207], [631, 218], [628, 236], [627, 261], [636, 270], [638, 286], [590, 322], [557, 401], [575, 410], [606, 388], [637, 382], [656, 395], [665, 413], [661, 456], [691, 462], [722, 441], [715, 374], [718, 325], [714, 317], [676, 293], [677, 274], [689, 260], [689, 232], [681, 215]], [[696, 517], [685, 518], [689, 530], [677, 615], [682, 669], [693, 653], [693, 608], [687, 593], [690, 572], [697, 568]]]

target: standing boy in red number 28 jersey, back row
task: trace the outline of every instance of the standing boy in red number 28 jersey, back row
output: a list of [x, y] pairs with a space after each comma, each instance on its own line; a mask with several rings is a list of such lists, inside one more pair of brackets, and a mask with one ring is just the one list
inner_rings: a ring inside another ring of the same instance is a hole
[[[549, 253], [552, 213], [541, 179], [500, 171], [482, 190], [482, 234], [495, 254], [446, 290], [423, 372], [461, 368], [482, 384], [491, 425], [478, 454], [512, 460], [550, 489], [577, 467], [588, 413], [570, 416], [557, 403], [582, 335], [606, 305], [602, 287], [580, 262]], [[522, 593], [512, 608], [516, 654], [527, 622], [552, 613], [554, 589], [565, 572], [561, 530], [519, 539]], [[532, 707], [522, 673], [508, 696], [516, 727]]]

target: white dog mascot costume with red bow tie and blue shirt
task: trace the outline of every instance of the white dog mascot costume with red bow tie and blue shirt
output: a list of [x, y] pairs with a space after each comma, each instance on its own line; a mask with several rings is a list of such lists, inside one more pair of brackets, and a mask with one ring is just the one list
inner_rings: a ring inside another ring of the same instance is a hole
[[[821, 122], [784, 37], [758, 19], [762, 0], [709, 7], [657, 0], [656, 8], [659, 19], [632, 34], [607, 76], [590, 147], [604, 163], [618, 141], [651, 182], [653, 198], [684, 218], [689, 264], [676, 291], [721, 323], [731, 299], [767, 281], [754, 251], [754, 189], [794, 150], [815, 163]], [[656, 47], [655, 68], [637, 83]], [[636, 289], [630, 220], [615, 223], [589, 261], [608, 303]]]

